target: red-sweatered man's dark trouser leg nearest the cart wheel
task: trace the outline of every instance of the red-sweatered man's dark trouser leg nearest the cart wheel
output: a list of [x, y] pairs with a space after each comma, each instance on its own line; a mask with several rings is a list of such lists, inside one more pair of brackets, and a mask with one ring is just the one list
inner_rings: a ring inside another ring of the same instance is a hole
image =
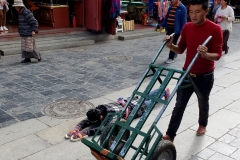
[[177, 130], [182, 121], [183, 113], [193, 92], [194, 89], [192, 87], [179, 89], [177, 91], [177, 101], [173, 109], [170, 123], [166, 132], [166, 134], [171, 138], [171, 140], [174, 140], [174, 137], [176, 136]]

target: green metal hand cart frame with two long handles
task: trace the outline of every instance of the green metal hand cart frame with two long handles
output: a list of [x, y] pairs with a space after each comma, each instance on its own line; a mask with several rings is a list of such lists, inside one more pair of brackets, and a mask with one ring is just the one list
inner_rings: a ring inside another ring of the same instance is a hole
[[[205, 46], [206, 43], [208, 43], [208, 41], [210, 39], [211, 39], [211, 36], [202, 45]], [[107, 115], [107, 116], [115, 116], [116, 121], [113, 124], [112, 129], [107, 134], [107, 137], [105, 137], [104, 142], [100, 145], [100, 142], [99, 142], [100, 138], [98, 140], [95, 140], [95, 139], [97, 139], [97, 135], [100, 132], [100, 130], [98, 130], [97, 133], [93, 136], [91, 141], [83, 139], [82, 142], [84, 144], [86, 144], [91, 149], [100, 153], [106, 147], [106, 144], [107, 144], [110, 136], [113, 134], [113, 131], [114, 131], [115, 127], [120, 126], [121, 130], [119, 131], [119, 133], [115, 137], [111, 147], [108, 149], [110, 151], [110, 153], [106, 157], [109, 158], [109, 159], [113, 159], [113, 160], [115, 160], [117, 158], [116, 156], [120, 156], [120, 157], [124, 158], [126, 156], [127, 152], [129, 151], [129, 149], [132, 148], [132, 149], [136, 150], [133, 157], [132, 157], [132, 160], [136, 160], [137, 158], [148, 160], [148, 159], [151, 158], [152, 153], [155, 151], [158, 143], [162, 139], [162, 133], [160, 132], [160, 130], [158, 129], [156, 124], [159, 121], [162, 114], [164, 113], [168, 104], [172, 100], [173, 96], [177, 92], [177, 90], [181, 89], [181, 88], [186, 88], [186, 87], [192, 86], [195, 89], [197, 94], [199, 92], [197, 87], [193, 83], [191, 77], [189, 76], [189, 71], [190, 71], [191, 67], [193, 66], [194, 62], [196, 61], [196, 59], [198, 58], [199, 54], [197, 53], [195, 55], [195, 57], [193, 58], [191, 64], [189, 65], [189, 67], [187, 68], [186, 71], [170, 69], [170, 68], [166, 68], [166, 67], [163, 67], [163, 66], [157, 66], [154, 63], [155, 63], [156, 59], [158, 58], [159, 54], [161, 53], [162, 49], [164, 48], [165, 44], [166, 44], [166, 42], [164, 42], [162, 44], [162, 46], [160, 47], [157, 55], [154, 57], [154, 59], [150, 63], [147, 71], [144, 73], [144, 76], [142, 77], [142, 79], [140, 80], [138, 85], [136, 86], [136, 88], [133, 91], [131, 97], [129, 98], [129, 101], [125, 105], [123, 112], [121, 114], [111, 113], [111, 114]], [[179, 76], [176, 77], [175, 76], [176, 74], [178, 74]], [[145, 90], [143, 92], [139, 91], [139, 88], [140, 88], [141, 84], [144, 82], [144, 80], [146, 80], [147, 78], [150, 78], [150, 77], [151, 77], [151, 79], [150, 79], [148, 85], [146, 86]], [[161, 79], [163, 77], [164, 77], [164, 79]], [[169, 82], [172, 79], [177, 80], [178, 83], [177, 83], [176, 87], [173, 89], [169, 99], [168, 100], [162, 100], [160, 98], [157, 98], [157, 97], [160, 97], [160, 95], [163, 94], [165, 88], [167, 87], [167, 85], [169, 84]], [[156, 93], [156, 96], [154, 96], [154, 97], [150, 96], [149, 93], [152, 90], [153, 86], [157, 82], [159, 82], [161, 84], [160, 87], [158, 88], [159, 90]], [[186, 83], [186, 84], [183, 85], [182, 83], [184, 83], [184, 84]], [[136, 96], [136, 95], [140, 96], [138, 103], [134, 107], [133, 111], [130, 113], [127, 120], [125, 122], [122, 122], [121, 117], [122, 117], [123, 113], [125, 112], [126, 107], [129, 105], [129, 103], [131, 102], [133, 97]], [[198, 96], [201, 97], [200, 94]], [[134, 117], [137, 114], [137, 112], [139, 111], [141, 105], [144, 103], [145, 99], [151, 99], [152, 102], [146, 108], [143, 115], [139, 118], [139, 121], [138, 121], [137, 125], [135, 127], [131, 127], [131, 124], [134, 120]], [[146, 122], [147, 118], [149, 117], [149, 115], [151, 114], [152, 110], [154, 109], [154, 107], [157, 103], [162, 103], [164, 105], [163, 105], [161, 111], [159, 112], [159, 114], [157, 115], [156, 119], [154, 120], [153, 124], [150, 126], [150, 129], [148, 130], [148, 132], [144, 133], [144, 132], [141, 131], [141, 128], [143, 127], [144, 123]], [[107, 118], [105, 118], [105, 120], [106, 119]], [[101, 126], [99, 128], [103, 127], [103, 124], [104, 124], [105, 120], [103, 121], [103, 123], [101, 124]], [[129, 138], [127, 139], [127, 141], [123, 141], [122, 137], [123, 137], [125, 131], [127, 131], [127, 130], [131, 131], [131, 134], [130, 134]], [[141, 143], [138, 147], [133, 146], [133, 142], [134, 142], [134, 140], [136, 139], [137, 136], [142, 136], [143, 137], [143, 140], [141, 141]], [[124, 146], [121, 149], [119, 155], [115, 155], [114, 152], [116, 150], [116, 147], [121, 142], [124, 142]], [[152, 143], [151, 146], [150, 146], [150, 143]]]

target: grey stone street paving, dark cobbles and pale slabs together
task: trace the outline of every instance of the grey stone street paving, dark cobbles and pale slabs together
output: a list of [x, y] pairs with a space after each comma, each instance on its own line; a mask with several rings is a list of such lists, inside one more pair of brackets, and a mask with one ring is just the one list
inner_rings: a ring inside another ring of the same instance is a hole
[[[163, 35], [43, 52], [40, 63], [20, 64], [19, 55], [3, 57], [0, 60], [0, 135], [4, 138], [0, 139], [0, 159], [93, 160], [81, 142], [63, 139], [81, 118], [67, 122], [50, 118], [43, 116], [42, 107], [69, 99], [91, 99], [92, 103], [99, 104], [130, 95], [162, 38]], [[234, 24], [229, 54], [216, 63], [207, 132], [204, 136], [195, 135], [198, 110], [193, 96], [174, 141], [178, 160], [240, 160], [239, 44], [240, 23]], [[184, 56], [178, 56], [169, 66], [180, 69]], [[166, 57], [167, 49], [157, 63], [164, 65]], [[132, 60], [119, 62], [124, 58]], [[113, 59], [113, 63], [108, 62], [109, 59]], [[158, 123], [163, 133], [174, 101]], [[143, 130], [155, 119], [157, 111], [149, 116]], [[17, 123], [19, 121], [23, 122]]]

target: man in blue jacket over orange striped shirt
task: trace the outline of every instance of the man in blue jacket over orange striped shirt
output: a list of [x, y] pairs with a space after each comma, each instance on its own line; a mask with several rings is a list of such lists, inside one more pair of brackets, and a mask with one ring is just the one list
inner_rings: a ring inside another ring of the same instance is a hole
[[[167, 31], [167, 35], [175, 33], [173, 44], [177, 44], [183, 26], [187, 22], [187, 10], [186, 7], [180, 2], [180, 0], [171, 0], [171, 6], [168, 8], [166, 17], [164, 18], [160, 32], [163, 28]], [[170, 64], [174, 62], [177, 54], [170, 50], [168, 59], [165, 63]]]

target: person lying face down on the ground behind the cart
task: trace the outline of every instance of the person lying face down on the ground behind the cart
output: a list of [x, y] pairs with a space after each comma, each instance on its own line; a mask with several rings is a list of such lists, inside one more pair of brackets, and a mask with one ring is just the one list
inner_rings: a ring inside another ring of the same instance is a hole
[[[149, 95], [154, 96], [157, 93], [157, 91], [158, 89], [155, 89], [151, 91]], [[164, 97], [164, 99], [167, 100], [169, 96], [170, 96], [170, 90], [169, 88], [166, 88], [160, 97], [161, 98]], [[139, 100], [138, 97], [133, 97], [131, 103], [129, 103], [126, 109], [125, 114], [122, 117], [123, 119], [127, 119], [128, 115], [131, 113], [131, 111], [137, 104], [138, 100]], [[101, 104], [101, 105], [98, 105], [95, 109], [88, 110], [86, 114], [87, 117], [81, 122], [79, 122], [73, 130], [69, 131], [69, 133], [65, 135], [65, 138], [75, 142], [75, 141], [80, 141], [82, 138], [93, 136], [98, 130], [104, 118], [107, 116], [107, 114], [121, 112], [126, 103], [127, 103], [126, 99], [118, 98], [117, 102]], [[151, 103], [151, 100], [146, 99], [134, 118], [141, 117], [146, 107], [150, 105], [150, 103]], [[108, 117], [108, 119], [105, 121], [105, 124], [103, 125], [103, 128], [107, 126], [108, 123], [111, 122], [111, 120], [112, 120], [112, 117]]]

